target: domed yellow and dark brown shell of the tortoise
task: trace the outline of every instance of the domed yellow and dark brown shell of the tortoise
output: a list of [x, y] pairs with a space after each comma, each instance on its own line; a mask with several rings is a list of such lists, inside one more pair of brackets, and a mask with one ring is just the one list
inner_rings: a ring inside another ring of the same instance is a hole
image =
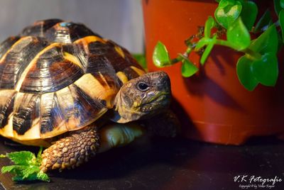
[[0, 45], [0, 134], [36, 140], [83, 128], [144, 73], [124, 47], [80, 23], [37, 21]]

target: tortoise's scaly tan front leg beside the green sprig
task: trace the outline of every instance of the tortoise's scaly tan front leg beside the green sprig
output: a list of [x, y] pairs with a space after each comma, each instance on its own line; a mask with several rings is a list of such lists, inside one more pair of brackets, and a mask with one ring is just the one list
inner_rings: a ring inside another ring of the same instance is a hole
[[97, 128], [88, 127], [69, 133], [69, 136], [61, 138], [54, 145], [43, 151], [43, 161], [40, 169], [47, 172], [50, 169], [71, 169], [87, 162], [93, 157], [100, 146], [100, 138]]

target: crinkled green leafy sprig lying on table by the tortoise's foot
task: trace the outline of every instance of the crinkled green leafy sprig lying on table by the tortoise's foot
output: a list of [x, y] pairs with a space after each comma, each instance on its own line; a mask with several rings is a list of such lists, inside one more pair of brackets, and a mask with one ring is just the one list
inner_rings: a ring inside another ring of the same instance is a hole
[[14, 164], [10, 166], [4, 166], [1, 169], [1, 172], [11, 173], [15, 176], [13, 181], [50, 181], [50, 178], [47, 174], [40, 171], [41, 163], [41, 152], [43, 147], [40, 147], [38, 151], [38, 156], [35, 157], [33, 152], [29, 151], [20, 151], [20, 152], [11, 152], [6, 155], [0, 155], [0, 157], [8, 157]]

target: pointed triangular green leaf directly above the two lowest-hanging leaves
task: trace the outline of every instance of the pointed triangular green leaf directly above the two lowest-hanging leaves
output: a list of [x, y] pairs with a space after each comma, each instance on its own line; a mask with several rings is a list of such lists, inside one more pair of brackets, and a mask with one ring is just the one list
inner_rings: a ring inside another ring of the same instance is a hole
[[270, 26], [264, 33], [262, 33], [256, 40], [253, 40], [249, 49], [260, 52], [262, 55], [266, 52], [278, 51], [278, 32], [275, 25]]

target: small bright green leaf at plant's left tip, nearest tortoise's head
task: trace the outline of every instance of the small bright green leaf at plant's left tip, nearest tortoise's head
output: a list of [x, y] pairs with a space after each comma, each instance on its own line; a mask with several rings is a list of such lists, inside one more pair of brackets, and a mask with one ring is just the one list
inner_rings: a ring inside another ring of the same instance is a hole
[[168, 50], [160, 41], [155, 45], [153, 52], [153, 62], [156, 67], [170, 66], [170, 55]]

